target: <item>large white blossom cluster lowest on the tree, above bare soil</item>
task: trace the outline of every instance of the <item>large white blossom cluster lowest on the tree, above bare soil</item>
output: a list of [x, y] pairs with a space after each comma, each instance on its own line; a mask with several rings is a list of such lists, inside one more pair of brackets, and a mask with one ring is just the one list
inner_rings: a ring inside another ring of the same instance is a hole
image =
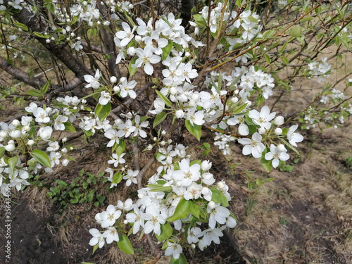
[[[130, 224], [130, 233], [153, 232], [163, 242], [165, 255], [178, 259], [183, 246], [189, 244], [203, 250], [212, 241], [219, 244], [222, 230], [237, 225], [234, 215], [226, 208], [231, 200], [229, 188], [224, 181], [215, 184], [209, 161], [190, 162], [182, 158], [184, 146], [173, 150], [169, 147], [165, 155], [162, 153], [165, 150], [161, 150], [158, 160], [163, 165], [149, 179], [149, 185], [139, 189], [136, 202], [118, 201], [96, 215], [96, 221], [106, 230], [89, 230], [93, 236], [91, 246], [101, 248], [105, 241], [108, 244], [119, 241], [125, 225]], [[172, 163], [172, 158], [179, 162]], [[170, 165], [165, 165], [166, 160]], [[201, 222], [208, 224], [201, 225]], [[171, 225], [178, 234], [169, 231]]]

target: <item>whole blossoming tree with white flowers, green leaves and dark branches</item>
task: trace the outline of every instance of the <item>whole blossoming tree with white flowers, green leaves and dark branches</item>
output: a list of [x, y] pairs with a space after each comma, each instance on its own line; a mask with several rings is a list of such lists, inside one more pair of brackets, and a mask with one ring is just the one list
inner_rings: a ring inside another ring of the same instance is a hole
[[[210, 149], [201, 137], [209, 130], [224, 155], [239, 144], [270, 171], [298, 153], [296, 122], [341, 125], [352, 113], [351, 97], [337, 83], [286, 119], [275, 105], [262, 106], [298, 76], [324, 81], [329, 60], [349, 52], [351, 7], [332, 2], [270, 1], [263, 9], [246, 0], [0, 0], [0, 68], [25, 84], [1, 83], [1, 103], [23, 106], [0, 123], [1, 192], [73, 163], [72, 139], [100, 133], [111, 156], [111, 188], [137, 184], [138, 199], [95, 215], [101, 228], [89, 230], [94, 251], [114, 243], [133, 253], [128, 237], [142, 232], [163, 243], [172, 263], [185, 263], [184, 247], [220, 243], [223, 230], [237, 225], [227, 209], [229, 187], [215, 179], [212, 163], [193, 160], [177, 134], [188, 131]], [[332, 44], [337, 53], [318, 59]], [[27, 60], [42, 75], [28, 73]], [[52, 77], [42, 67], [47, 61]], [[284, 69], [286, 79], [278, 74]], [[151, 156], [143, 164], [141, 151]]]

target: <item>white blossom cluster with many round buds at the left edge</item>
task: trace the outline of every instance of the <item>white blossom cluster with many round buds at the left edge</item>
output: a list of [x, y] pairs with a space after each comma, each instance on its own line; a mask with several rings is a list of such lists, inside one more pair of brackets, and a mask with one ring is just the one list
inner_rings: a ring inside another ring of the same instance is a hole
[[[30, 103], [25, 108], [28, 115], [20, 120], [13, 120], [9, 125], [0, 123], [0, 188], [5, 192], [5, 184], [11, 184], [18, 191], [27, 182], [30, 174], [44, 168], [45, 172], [52, 172], [56, 165], [67, 166], [72, 158], [68, 152], [73, 146], [65, 146], [65, 137], [61, 144], [53, 138], [55, 131], [75, 131], [71, 124], [84, 110], [85, 101], [77, 96], [65, 96], [56, 99], [58, 108], [40, 107], [37, 103]], [[41, 143], [47, 144], [45, 151]]]

